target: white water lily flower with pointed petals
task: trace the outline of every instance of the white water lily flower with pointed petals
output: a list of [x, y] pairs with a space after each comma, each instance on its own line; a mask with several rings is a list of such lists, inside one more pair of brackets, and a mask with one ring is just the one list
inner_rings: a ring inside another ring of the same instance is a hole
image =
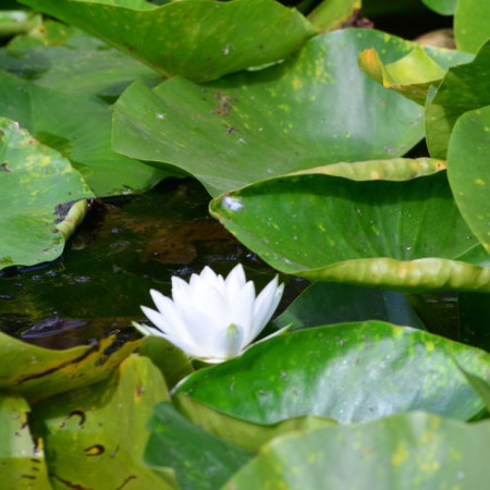
[[[172, 277], [172, 299], [150, 290], [158, 311], [142, 306], [154, 327], [133, 323], [144, 335], [158, 335], [191, 357], [221, 363], [240, 356], [264, 330], [281, 299], [278, 277], [255, 297], [242, 265], [224, 279], [205, 267], [187, 283]], [[275, 333], [274, 333], [275, 334]]]

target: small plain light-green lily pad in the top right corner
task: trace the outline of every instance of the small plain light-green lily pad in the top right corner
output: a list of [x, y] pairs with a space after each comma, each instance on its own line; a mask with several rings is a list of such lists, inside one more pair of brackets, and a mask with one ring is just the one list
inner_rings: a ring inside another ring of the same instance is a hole
[[457, 0], [454, 37], [458, 49], [477, 52], [490, 37], [490, 3], [481, 0]]

